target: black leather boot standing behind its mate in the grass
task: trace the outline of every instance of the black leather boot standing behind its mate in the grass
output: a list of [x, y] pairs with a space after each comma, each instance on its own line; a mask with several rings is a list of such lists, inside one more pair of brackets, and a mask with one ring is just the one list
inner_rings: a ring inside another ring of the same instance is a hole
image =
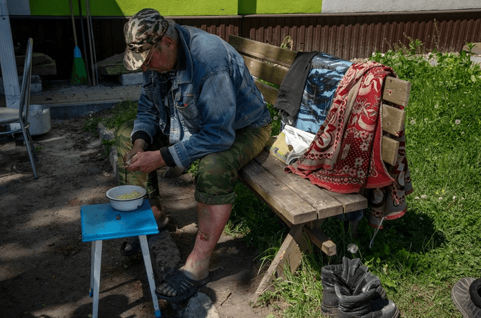
[[[362, 284], [362, 279], [369, 272], [369, 268], [361, 264], [360, 259], [342, 258], [342, 264], [329, 265], [321, 268], [322, 283], [322, 315], [335, 317], [339, 301], [334, 290], [336, 276], [341, 277], [350, 289], [355, 289]], [[386, 297], [386, 291], [382, 286], [377, 288], [375, 297]]]

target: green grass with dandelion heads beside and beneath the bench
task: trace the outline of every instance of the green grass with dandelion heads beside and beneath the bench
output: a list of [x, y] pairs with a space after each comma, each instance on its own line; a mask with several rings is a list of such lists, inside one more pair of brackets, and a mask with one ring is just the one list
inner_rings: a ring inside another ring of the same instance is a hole
[[[347, 256], [360, 257], [380, 277], [402, 317], [462, 317], [451, 288], [462, 277], [481, 276], [481, 70], [466, 52], [433, 53], [433, 66], [413, 51], [371, 58], [412, 83], [406, 153], [414, 192], [406, 215], [385, 221], [372, 248], [374, 229], [365, 218], [355, 239], [340, 221], [328, 219], [322, 230], [337, 244], [337, 255], [305, 255], [295, 275], [277, 281], [257, 306], [277, 308], [277, 317], [320, 317], [320, 268]], [[273, 213], [253, 195], [239, 196], [226, 230], [242, 228], [239, 233], [262, 257], [272, 257], [286, 230], [265, 229], [256, 220], [268, 215]], [[355, 254], [349, 244], [357, 245]]]

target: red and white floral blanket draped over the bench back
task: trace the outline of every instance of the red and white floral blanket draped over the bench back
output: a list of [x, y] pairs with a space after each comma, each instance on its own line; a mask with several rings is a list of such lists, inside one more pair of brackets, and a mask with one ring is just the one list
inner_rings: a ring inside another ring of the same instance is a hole
[[[326, 120], [309, 149], [286, 172], [333, 192], [369, 191], [369, 224], [397, 219], [413, 191], [406, 161], [404, 131], [395, 166], [382, 161], [382, 84], [395, 72], [380, 63], [355, 63], [335, 92]], [[382, 226], [381, 226], [382, 228]]]

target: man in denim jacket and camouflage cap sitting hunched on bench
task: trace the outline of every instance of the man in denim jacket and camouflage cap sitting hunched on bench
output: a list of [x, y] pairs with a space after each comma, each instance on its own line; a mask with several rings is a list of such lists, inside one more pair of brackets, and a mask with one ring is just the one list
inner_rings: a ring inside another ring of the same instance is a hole
[[[185, 169], [200, 159], [194, 249], [156, 290], [161, 299], [180, 301], [210, 278], [210, 257], [235, 201], [237, 171], [266, 146], [271, 115], [244, 59], [216, 35], [179, 26], [153, 9], [131, 17], [124, 33], [124, 65], [141, 68], [144, 83], [137, 119], [118, 132], [119, 166], [131, 159], [119, 169], [121, 182], [143, 186], [155, 199], [157, 168]], [[161, 213], [155, 204], [153, 211]]]

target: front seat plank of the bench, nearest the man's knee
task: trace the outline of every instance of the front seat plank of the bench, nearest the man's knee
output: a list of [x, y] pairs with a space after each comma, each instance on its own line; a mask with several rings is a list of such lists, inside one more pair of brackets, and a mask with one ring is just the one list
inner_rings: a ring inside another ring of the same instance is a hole
[[276, 213], [282, 214], [292, 224], [306, 223], [317, 219], [317, 210], [300, 195], [293, 192], [271, 173], [251, 161], [239, 171], [242, 180], [253, 188]]

